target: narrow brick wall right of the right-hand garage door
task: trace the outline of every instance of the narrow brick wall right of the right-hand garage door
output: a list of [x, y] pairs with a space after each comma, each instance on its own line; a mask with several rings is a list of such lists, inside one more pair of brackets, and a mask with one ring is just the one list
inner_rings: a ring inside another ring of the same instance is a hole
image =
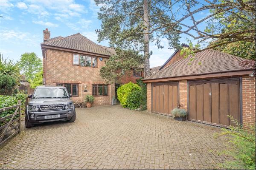
[[243, 124], [255, 124], [255, 77], [242, 77], [243, 84]]

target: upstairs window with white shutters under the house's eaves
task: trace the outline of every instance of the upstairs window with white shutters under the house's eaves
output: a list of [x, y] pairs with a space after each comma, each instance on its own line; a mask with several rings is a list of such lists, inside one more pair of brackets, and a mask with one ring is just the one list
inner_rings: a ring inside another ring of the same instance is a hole
[[97, 67], [97, 57], [90, 57], [90, 56], [74, 54], [73, 55], [73, 65]]

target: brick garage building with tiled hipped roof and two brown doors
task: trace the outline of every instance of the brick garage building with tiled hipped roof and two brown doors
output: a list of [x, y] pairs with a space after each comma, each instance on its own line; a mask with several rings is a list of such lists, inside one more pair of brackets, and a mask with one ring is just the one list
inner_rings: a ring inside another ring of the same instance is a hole
[[[184, 59], [176, 51], [149, 77], [149, 112], [172, 116], [180, 105], [188, 119], [210, 125], [255, 124], [255, 70], [241, 65], [246, 59], [215, 50], [206, 50]], [[198, 64], [201, 62], [201, 64]]]

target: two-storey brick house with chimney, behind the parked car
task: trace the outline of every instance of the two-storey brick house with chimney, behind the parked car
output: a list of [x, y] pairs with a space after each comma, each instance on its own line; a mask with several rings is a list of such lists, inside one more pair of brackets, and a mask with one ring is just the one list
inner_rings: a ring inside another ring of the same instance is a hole
[[[83, 102], [84, 96], [95, 96], [93, 105], [111, 105], [115, 85], [107, 84], [100, 76], [105, 61], [116, 54], [113, 48], [98, 45], [80, 33], [67, 37], [50, 38], [50, 31], [43, 31], [43, 77], [45, 85], [65, 86], [74, 102]], [[136, 82], [142, 76], [128, 76], [120, 83]]]

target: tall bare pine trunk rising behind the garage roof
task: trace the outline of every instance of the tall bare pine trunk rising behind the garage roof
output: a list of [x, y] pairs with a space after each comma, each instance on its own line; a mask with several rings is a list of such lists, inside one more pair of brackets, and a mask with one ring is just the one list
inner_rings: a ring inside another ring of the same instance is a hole
[[144, 77], [150, 75], [150, 65], [149, 65], [149, 15], [148, 15], [148, 0], [144, 0], [143, 5], [144, 11]]

